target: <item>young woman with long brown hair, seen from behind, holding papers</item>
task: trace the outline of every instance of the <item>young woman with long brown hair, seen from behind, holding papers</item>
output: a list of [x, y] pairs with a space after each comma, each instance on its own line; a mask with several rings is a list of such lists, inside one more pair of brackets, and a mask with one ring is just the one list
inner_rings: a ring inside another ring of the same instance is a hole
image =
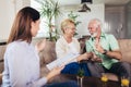
[[[35, 9], [25, 7], [19, 11], [4, 53], [3, 87], [41, 87], [64, 67], [56, 67], [46, 77], [40, 78], [38, 50], [44, 49], [45, 44], [37, 49], [32, 45], [32, 38], [39, 29], [39, 12]], [[61, 87], [62, 84], [57, 84], [57, 86]], [[76, 86], [74, 83], [72, 85]]]

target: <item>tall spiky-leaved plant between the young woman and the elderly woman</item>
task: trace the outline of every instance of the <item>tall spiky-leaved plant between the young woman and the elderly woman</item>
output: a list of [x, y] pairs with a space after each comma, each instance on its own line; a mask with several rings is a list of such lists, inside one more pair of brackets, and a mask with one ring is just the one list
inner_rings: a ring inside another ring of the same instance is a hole
[[[55, 29], [55, 24], [52, 24], [52, 18], [56, 18], [60, 14], [60, 7], [58, 1], [55, 2], [55, 0], [36, 0], [38, 3], [41, 4], [40, 8], [40, 15], [41, 17], [47, 18], [47, 26], [49, 28], [49, 40], [56, 39], [56, 35], [52, 36], [52, 32], [57, 33], [57, 29]], [[53, 30], [55, 29], [55, 30]]]

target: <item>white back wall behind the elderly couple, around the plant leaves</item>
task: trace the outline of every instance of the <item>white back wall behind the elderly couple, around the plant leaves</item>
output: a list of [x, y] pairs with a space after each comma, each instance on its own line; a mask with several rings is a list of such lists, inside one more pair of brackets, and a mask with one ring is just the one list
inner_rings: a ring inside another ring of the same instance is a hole
[[[91, 18], [99, 18], [103, 23], [105, 20], [105, 5], [104, 3], [98, 3], [98, 4], [87, 4], [91, 8], [91, 12], [73, 12], [74, 14], [79, 14], [80, 16], [78, 17], [78, 21], [81, 21], [82, 23], [79, 24], [76, 27], [79, 36], [85, 36], [90, 35], [87, 30], [87, 23]], [[75, 10], [76, 8], [74, 7], [72, 10]], [[56, 20], [56, 25], [58, 25], [58, 28], [60, 29], [60, 23], [64, 20], [68, 18], [68, 14], [70, 11], [63, 10], [62, 15], [60, 15]]]

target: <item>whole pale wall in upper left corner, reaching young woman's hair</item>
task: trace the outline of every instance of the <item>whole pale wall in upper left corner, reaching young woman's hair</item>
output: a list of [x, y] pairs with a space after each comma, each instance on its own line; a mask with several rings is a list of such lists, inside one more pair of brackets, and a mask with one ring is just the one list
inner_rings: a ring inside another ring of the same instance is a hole
[[29, 0], [1, 0], [0, 2], [0, 41], [8, 39], [15, 13], [29, 5]]

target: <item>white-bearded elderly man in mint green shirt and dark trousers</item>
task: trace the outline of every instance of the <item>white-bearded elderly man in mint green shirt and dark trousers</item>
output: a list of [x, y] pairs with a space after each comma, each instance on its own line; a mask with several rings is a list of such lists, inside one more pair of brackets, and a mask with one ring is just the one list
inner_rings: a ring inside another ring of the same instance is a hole
[[93, 62], [87, 63], [92, 76], [100, 77], [102, 73], [109, 72], [131, 77], [130, 64], [120, 62], [122, 55], [115, 36], [103, 33], [102, 23], [97, 18], [90, 21], [88, 30], [91, 38], [86, 41], [86, 51], [93, 53]]

